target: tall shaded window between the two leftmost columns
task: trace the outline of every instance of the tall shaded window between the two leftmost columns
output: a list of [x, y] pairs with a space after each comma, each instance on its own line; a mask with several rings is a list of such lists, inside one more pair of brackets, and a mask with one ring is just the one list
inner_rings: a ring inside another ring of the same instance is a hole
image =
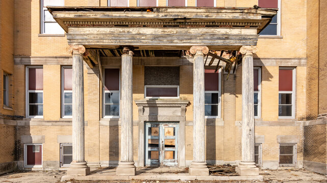
[[105, 69], [104, 116], [118, 117], [120, 104], [119, 69]]

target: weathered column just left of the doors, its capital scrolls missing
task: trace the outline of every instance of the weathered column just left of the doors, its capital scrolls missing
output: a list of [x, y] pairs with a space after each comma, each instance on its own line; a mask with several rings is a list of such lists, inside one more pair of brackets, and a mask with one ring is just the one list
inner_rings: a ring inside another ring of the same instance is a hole
[[117, 175], [135, 175], [133, 161], [133, 51], [123, 48], [121, 55], [120, 162]]

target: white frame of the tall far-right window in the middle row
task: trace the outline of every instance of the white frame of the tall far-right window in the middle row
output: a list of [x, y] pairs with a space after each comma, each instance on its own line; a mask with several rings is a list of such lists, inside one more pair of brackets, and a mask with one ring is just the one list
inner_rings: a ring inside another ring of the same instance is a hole
[[[278, 91], [280, 94], [292, 94], [292, 115], [291, 116], [278, 116], [280, 119], [293, 119], [295, 118], [295, 87], [296, 87], [296, 69], [295, 68], [284, 68], [280, 67], [279, 70], [292, 70], [292, 91]], [[279, 83], [278, 83], [279, 84]], [[285, 104], [284, 104], [285, 105]], [[278, 111], [280, 104], [278, 103]], [[278, 114], [279, 115], [279, 114]]]

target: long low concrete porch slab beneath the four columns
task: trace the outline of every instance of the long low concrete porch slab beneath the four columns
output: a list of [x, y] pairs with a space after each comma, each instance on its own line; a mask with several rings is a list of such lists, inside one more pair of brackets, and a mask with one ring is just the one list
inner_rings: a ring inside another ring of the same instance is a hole
[[191, 176], [188, 173], [140, 173], [134, 176], [117, 176], [115, 171], [105, 173], [91, 173], [86, 176], [64, 175], [62, 180], [263, 180], [262, 175], [258, 176]]

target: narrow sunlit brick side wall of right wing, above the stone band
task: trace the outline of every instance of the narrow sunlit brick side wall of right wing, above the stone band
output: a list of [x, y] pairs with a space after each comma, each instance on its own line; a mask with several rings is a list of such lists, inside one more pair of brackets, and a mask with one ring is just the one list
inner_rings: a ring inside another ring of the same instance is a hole
[[306, 112], [307, 119], [315, 119], [318, 115], [319, 29], [312, 27], [319, 24], [319, 0], [307, 1], [307, 7], [310, 16], [307, 16]]

